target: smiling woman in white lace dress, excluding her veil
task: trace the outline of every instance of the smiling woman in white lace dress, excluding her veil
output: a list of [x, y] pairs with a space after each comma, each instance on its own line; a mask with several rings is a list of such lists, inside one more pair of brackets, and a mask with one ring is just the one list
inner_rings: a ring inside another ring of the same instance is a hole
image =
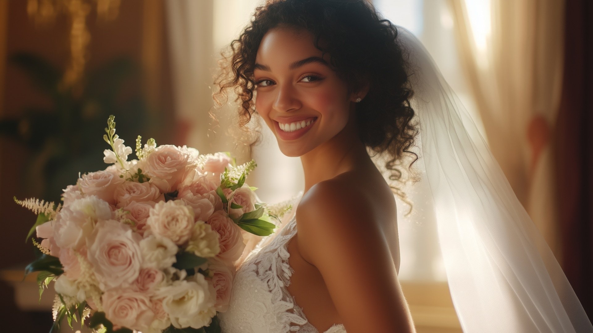
[[[225, 331], [415, 332], [397, 278], [397, 187], [367, 150], [400, 156], [413, 142], [396, 36], [365, 1], [276, 1], [232, 43], [216, 97], [235, 88], [241, 125], [260, 117], [301, 158], [305, 188], [293, 219], [239, 268]], [[387, 162], [393, 180], [400, 162]]]

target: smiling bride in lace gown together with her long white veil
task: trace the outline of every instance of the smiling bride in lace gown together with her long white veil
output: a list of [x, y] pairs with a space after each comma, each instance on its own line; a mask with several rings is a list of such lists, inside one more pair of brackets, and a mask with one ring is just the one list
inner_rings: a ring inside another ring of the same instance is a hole
[[305, 188], [291, 219], [238, 268], [219, 314], [224, 332], [415, 332], [398, 281], [393, 195], [406, 200], [407, 171], [431, 185], [464, 331], [593, 332], [409, 32], [365, 0], [269, 1], [231, 50], [217, 102], [236, 92], [240, 125], [262, 119], [285, 155], [300, 156]]

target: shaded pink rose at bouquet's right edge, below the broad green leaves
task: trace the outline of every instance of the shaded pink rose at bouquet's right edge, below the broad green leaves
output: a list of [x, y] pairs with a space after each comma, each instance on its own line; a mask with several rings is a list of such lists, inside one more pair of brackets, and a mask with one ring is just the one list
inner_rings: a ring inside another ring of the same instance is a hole
[[241, 228], [220, 210], [212, 214], [208, 224], [220, 235], [218, 242], [221, 252], [216, 257], [225, 262], [233, 262], [241, 257], [245, 248]]

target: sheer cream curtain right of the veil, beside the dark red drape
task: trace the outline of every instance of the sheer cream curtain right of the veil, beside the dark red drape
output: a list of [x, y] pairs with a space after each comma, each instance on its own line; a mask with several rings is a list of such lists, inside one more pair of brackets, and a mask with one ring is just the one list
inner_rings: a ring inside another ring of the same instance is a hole
[[[560, 260], [550, 129], [562, 92], [563, 0], [449, 0], [490, 149]], [[489, 9], [489, 10], [483, 10]]]

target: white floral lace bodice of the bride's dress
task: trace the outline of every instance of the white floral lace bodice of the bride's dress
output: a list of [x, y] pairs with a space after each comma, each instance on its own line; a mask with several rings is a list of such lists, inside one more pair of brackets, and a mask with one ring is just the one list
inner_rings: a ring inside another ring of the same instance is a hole
[[[319, 333], [286, 289], [294, 272], [287, 248], [295, 233], [297, 220], [292, 217], [272, 242], [256, 246], [238, 269], [229, 308], [219, 313], [224, 333]], [[346, 329], [336, 324], [324, 333]]]

